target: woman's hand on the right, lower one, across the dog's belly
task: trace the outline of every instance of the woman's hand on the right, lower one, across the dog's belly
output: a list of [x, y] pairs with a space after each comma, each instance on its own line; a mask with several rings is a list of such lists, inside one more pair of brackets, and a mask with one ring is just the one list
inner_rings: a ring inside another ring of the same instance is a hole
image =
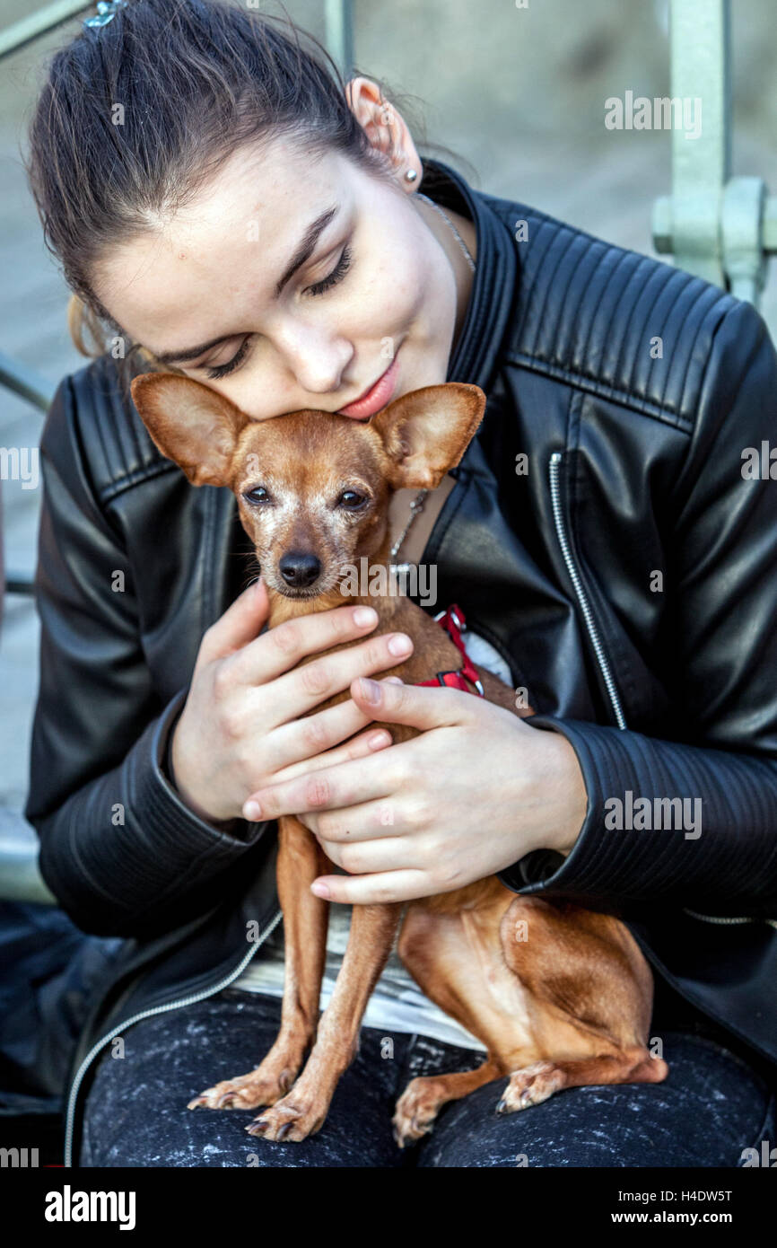
[[354, 680], [350, 695], [374, 720], [420, 736], [372, 758], [266, 785], [246, 819], [296, 814], [332, 861], [321, 897], [408, 901], [450, 892], [535, 849], [567, 854], [586, 791], [566, 738], [458, 689]]

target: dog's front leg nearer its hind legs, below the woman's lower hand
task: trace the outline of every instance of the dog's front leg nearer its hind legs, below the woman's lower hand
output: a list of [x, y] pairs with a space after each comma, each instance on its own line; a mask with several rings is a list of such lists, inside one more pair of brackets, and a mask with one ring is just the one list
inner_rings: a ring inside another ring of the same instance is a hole
[[291, 1092], [246, 1127], [264, 1139], [304, 1139], [324, 1122], [339, 1077], [355, 1057], [370, 993], [385, 966], [402, 904], [354, 906], [348, 947], [306, 1067]]

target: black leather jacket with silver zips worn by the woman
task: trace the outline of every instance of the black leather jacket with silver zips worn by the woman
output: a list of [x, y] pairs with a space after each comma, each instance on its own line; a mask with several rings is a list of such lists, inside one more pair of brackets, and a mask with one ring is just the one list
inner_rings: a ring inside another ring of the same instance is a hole
[[[476, 225], [448, 381], [488, 396], [424, 562], [438, 607], [460, 603], [528, 689], [534, 726], [570, 740], [589, 796], [565, 861], [535, 852], [501, 879], [622, 914], [659, 986], [773, 1073], [777, 485], [742, 474], [745, 448], [777, 437], [767, 328], [439, 161], [424, 191]], [[233, 495], [160, 456], [107, 354], [59, 387], [41, 463], [26, 816], [64, 910], [126, 937], [72, 1066], [77, 1146], [107, 1040], [220, 991], [278, 921], [276, 825], [212, 827], [163, 770], [202, 634], [246, 583]], [[609, 829], [629, 792], [701, 801], [701, 834]]]

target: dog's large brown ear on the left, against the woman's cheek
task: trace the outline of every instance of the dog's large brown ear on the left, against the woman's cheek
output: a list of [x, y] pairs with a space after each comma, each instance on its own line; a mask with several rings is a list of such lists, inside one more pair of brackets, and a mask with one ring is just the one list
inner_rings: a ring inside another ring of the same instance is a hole
[[192, 485], [229, 485], [232, 461], [248, 417], [223, 394], [177, 373], [142, 373], [130, 386], [152, 442]]

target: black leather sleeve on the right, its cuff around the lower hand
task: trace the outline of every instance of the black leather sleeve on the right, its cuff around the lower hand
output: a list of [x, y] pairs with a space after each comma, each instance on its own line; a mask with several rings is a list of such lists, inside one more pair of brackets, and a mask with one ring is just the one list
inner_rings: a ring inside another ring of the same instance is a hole
[[[673, 495], [654, 500], [677, 739], [533, 720], [572, 745], [587, 810], [566, 859], [535, 851], [500, 872], [515, 892], [777, 917], [777, 479], [742, 473], [746, 448], [761, 454], [765, 442], [777, 447], [777, 356], [761, 316], [737, 302], [717, 329]], [[650, 814], [625, 826], [637, 797]], [[683, 826], [656, 814], [664, 799], [687, 800]]]

